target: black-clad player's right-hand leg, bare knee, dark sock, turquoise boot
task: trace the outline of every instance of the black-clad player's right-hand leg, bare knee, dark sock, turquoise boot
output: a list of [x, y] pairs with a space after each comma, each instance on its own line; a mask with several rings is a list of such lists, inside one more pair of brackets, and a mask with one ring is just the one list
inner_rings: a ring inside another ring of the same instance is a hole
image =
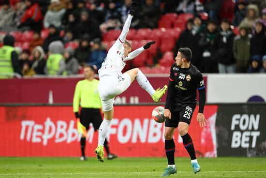
[[196, 174], [197, 172], [200, 172], [200, 165], [198, 164], [192, 138], [189, 135], [188, 131], [189, 131], [188, 123], [186, 122], [178, 123], [178, 132], [183, 139], [184, 147], [186, 148], [186, 150], [190, 155], [193, 172]]

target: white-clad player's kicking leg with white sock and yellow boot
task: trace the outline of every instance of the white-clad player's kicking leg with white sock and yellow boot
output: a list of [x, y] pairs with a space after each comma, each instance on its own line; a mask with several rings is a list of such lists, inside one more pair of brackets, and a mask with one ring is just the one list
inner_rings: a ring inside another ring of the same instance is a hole
[[126, 73], [130, 75], [131, 83], [136, 79], [138, 84], [148, 92], [154, 102], [158, 103], [161, 100], [163, 94], [167, 89], [166, 85], [163, 87], [163, 89], [159, 88], [154, 90], [150, 85], [147, 77], [141, 72], [141, 70], [139, 70], [139, 68], [131, 69]]

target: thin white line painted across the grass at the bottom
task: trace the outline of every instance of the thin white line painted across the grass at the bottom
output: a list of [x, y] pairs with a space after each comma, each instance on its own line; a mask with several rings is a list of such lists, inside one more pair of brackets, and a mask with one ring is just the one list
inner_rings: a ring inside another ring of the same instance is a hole
[[[91, 172], [91, 173], [9, 173], [9, 174], [0, 174], [0, 176], [12, 176], [12, 175], [81, 175], [81, 174], [152, 174], [152, 173], [162, 173], [161, 172]], [[247, 170], [247, 171], [201, 171], [200, 173], [251, 173], [251, 172], [266, 172], [266, 170]], [[177, 171], [178, 173], [192, 173], [191, 171]]]

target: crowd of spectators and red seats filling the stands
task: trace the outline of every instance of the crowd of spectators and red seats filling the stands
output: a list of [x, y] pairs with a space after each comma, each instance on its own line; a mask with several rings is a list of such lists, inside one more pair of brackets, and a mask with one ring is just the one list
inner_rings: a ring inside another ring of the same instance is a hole
[[[156, 45], [125, 70], [169, 73], [177, 50], [189, 47], [202, 73], [266, 73], [266, 0], [138, 1], [127, 39], [133, 49]], [[12, 67], [24, 76], [80, 74], [85, 64], [99, 69], [131, 3], [0, 0], [0, 46], [15, 47]]]

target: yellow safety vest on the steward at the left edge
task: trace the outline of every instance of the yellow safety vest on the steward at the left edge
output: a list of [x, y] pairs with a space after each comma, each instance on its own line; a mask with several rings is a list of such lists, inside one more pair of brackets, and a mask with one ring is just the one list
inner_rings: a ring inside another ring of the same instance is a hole
[[12, 51], [15, 51], [12, 46], [5, 45], [0, 48], [0, 78], [13, 77], [15, 74], [11, 59]]

